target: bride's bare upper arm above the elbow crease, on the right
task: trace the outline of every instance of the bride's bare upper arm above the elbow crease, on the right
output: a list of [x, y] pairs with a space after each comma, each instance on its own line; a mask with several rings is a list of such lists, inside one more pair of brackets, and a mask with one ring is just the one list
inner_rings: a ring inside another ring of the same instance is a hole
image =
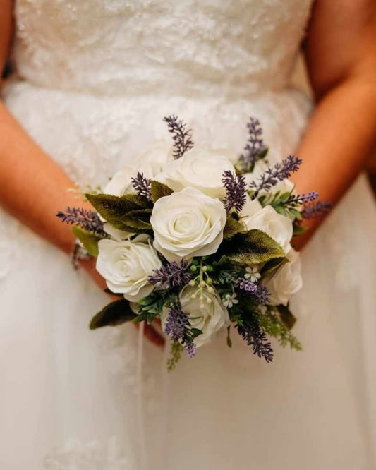
[[353, 73], [375, 73], [376, 1], [315, 0], [305, 57], [316, 91]]

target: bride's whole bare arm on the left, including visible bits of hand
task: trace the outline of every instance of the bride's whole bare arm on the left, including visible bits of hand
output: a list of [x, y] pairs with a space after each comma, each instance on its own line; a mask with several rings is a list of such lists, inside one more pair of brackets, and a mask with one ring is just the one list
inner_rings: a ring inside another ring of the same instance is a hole
[[[0, 0], [0, 71], [11, 42], [11, 25], [12, 2]], [[0, 204], [68, 254], [73, 253], [75, 237], [71, 227], [56, 217], [56, 212], [67, 205], [78, 205], [74, 195], [67, 191], [74, 186], [0, 102]], [[92, 210], [89, 203], [80, 201], [79, 205]], [[83, 266], [99, 287], [105, 289], [104, 279], [95, 270], [95, 261], [85, 261]], [[162, 337], [149, 325], [145, 325], [145, 336], [163, 344]]]

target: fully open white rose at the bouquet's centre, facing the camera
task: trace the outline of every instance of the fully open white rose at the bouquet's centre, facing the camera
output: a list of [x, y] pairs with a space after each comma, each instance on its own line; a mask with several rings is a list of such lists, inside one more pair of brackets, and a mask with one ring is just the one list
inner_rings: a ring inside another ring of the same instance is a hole
[[169, 261], [215, 253], [223, 239], [226, 210], [217, 199], [185, 188], [157, 200], [150, 223], [154, 248]]

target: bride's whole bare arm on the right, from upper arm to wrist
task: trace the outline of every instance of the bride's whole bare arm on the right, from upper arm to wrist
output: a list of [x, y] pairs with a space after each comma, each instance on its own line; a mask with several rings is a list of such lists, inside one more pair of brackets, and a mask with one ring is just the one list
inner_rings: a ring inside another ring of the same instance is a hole
[[[375, 145], [375, 0], [316, 0], [305, 59], [317, 107], [297, 152], [303, 164], [294, 181], [299, 192], [315, 190], [336, 203]], [[300, 246], [320, 222], [308, 224]]]

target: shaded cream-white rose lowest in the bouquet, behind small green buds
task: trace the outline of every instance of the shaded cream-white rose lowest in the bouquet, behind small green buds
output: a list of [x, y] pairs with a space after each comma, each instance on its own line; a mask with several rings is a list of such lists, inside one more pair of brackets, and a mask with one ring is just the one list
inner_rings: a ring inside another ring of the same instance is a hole
[[[195, 345], [202, 346], [212, 339], [214, 334], [222, 328], [229, 326], [229, 312], [224, 307], [217, 291], [212, 293], [206, 289], [202, 292], [197, 287], [183, 287], [179, 294], [181, 310], [188, 313], [190, 325], [202, 331], [202, 335], [195, 338]], [[166, 321], [167, 311], [162, 315], [162, 323]]]

